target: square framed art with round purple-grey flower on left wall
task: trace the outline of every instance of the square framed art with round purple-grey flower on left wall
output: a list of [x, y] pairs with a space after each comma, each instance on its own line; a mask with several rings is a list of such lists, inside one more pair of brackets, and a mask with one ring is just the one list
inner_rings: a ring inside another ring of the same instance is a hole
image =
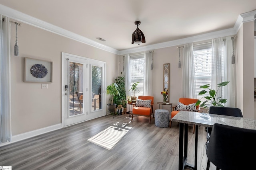
[[52, 61], [25, 57], [24, 82], [52, 83]]

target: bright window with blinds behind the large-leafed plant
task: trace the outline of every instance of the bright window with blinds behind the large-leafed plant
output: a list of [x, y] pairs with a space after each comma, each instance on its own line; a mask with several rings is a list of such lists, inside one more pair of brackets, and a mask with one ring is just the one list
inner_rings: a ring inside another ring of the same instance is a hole
[[[203, 90], [200, 86], [205, 84], [212, 84], [212, 43], [204, 43], [202, 45], [194, 45], [194, 64], [195, 64], [195, 79], [196, 79], [196, 98], [202, 102], [206, 101], [202, 98], [203, 95], [198, 95], [198, 93]], [[222, 50], [223, 52], [223, 50]], [[224, 56], [224, 54], [222, 54]], [[224, 57], [222, 57], [222, 81], [223, 81], [223, 66]], [[216, 89], [214, 89], [216, 90]], [[208, 94], [208, 93], [207, 93]], [[223, 90], [222, 90], [223, 96]], [[207, 102], [206, 105], [210, 105]]]

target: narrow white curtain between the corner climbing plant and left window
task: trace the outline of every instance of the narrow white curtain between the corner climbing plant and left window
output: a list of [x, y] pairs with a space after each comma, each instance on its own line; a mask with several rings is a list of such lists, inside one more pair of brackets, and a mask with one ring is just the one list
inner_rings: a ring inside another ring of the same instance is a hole
[[130, 55], [126, 54], [124, 56], [124, 83], [126, 96], [131, 96], [131, 92], [129, 91], [131, 86], [131, 78], [130, 78]]

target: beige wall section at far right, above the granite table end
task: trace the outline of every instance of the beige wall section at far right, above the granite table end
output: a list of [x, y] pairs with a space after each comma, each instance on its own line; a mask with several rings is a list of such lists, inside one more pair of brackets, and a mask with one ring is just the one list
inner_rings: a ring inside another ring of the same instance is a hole
[[254, 21], [243, 23], [237, 37], [237, 106], [244, 117], [255, 118]]

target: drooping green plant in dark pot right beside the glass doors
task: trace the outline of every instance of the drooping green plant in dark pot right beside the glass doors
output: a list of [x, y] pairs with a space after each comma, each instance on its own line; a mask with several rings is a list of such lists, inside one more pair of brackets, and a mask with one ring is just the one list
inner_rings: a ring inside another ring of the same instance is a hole
[[120, 96], [119, 87], [116, 83], [112, 83], [107, 86], [106, 89], [107, 95], [112, 95], [112, 100], [110, 104], [107, 104], [108, 111], [115, 112], [116, 111], [116, 104], [114, 103], [115, 96]]

